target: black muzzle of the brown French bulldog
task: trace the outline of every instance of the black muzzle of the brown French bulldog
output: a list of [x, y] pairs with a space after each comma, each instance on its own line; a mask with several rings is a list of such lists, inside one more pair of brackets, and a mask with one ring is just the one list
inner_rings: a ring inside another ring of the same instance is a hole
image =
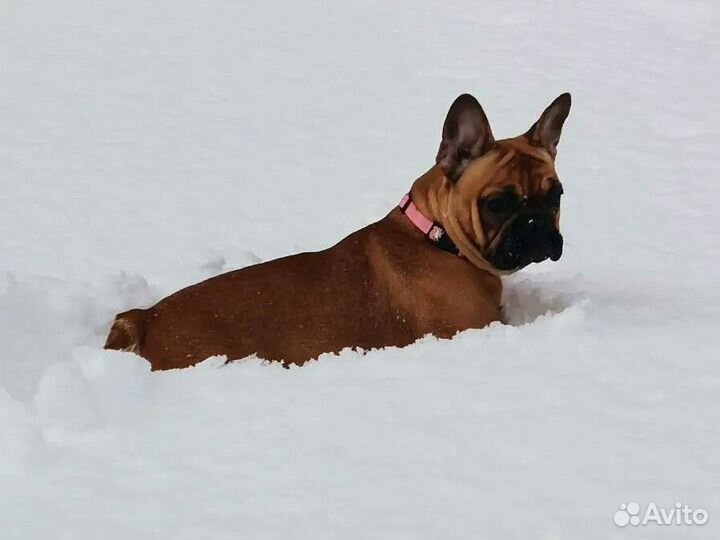
[[563, 237], [552, 216], [543, 212], [521, 215], [510, 226], [489, 257], [498, 270], [519, 270], [531, 263], [562, 256]]

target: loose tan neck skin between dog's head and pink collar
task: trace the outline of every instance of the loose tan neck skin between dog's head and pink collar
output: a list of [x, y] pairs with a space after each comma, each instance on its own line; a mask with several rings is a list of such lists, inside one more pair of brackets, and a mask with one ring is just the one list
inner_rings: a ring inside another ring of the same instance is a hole
[[480, 270], [495, 276], [509, 273], [493, 267], [478, 247], [477, 240], [473, 241], [462, 229], [453, 215], [452, 205], [450, 204], [452, 192], [452, 183], [445, 176], [442, 169], [434, 165], [429, 171], [415, 180], [410, 189], [410, 196], [420, 212], [435, 223], [439, 223], [445, 229], [462, 257]]

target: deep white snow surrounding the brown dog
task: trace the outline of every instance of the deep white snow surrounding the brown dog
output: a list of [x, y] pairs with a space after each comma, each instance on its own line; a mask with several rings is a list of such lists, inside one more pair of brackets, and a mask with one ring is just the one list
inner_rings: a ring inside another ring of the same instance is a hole
[[[720, 8], [0, 6], [3, 537], [720, 535]], [[301, 369], [150, 373], [114, 314], [383, 216], [472, 92], [573, 94], [566, 249], [508, 325]], [[700, 526], [622, 529], [676, 501]]]

